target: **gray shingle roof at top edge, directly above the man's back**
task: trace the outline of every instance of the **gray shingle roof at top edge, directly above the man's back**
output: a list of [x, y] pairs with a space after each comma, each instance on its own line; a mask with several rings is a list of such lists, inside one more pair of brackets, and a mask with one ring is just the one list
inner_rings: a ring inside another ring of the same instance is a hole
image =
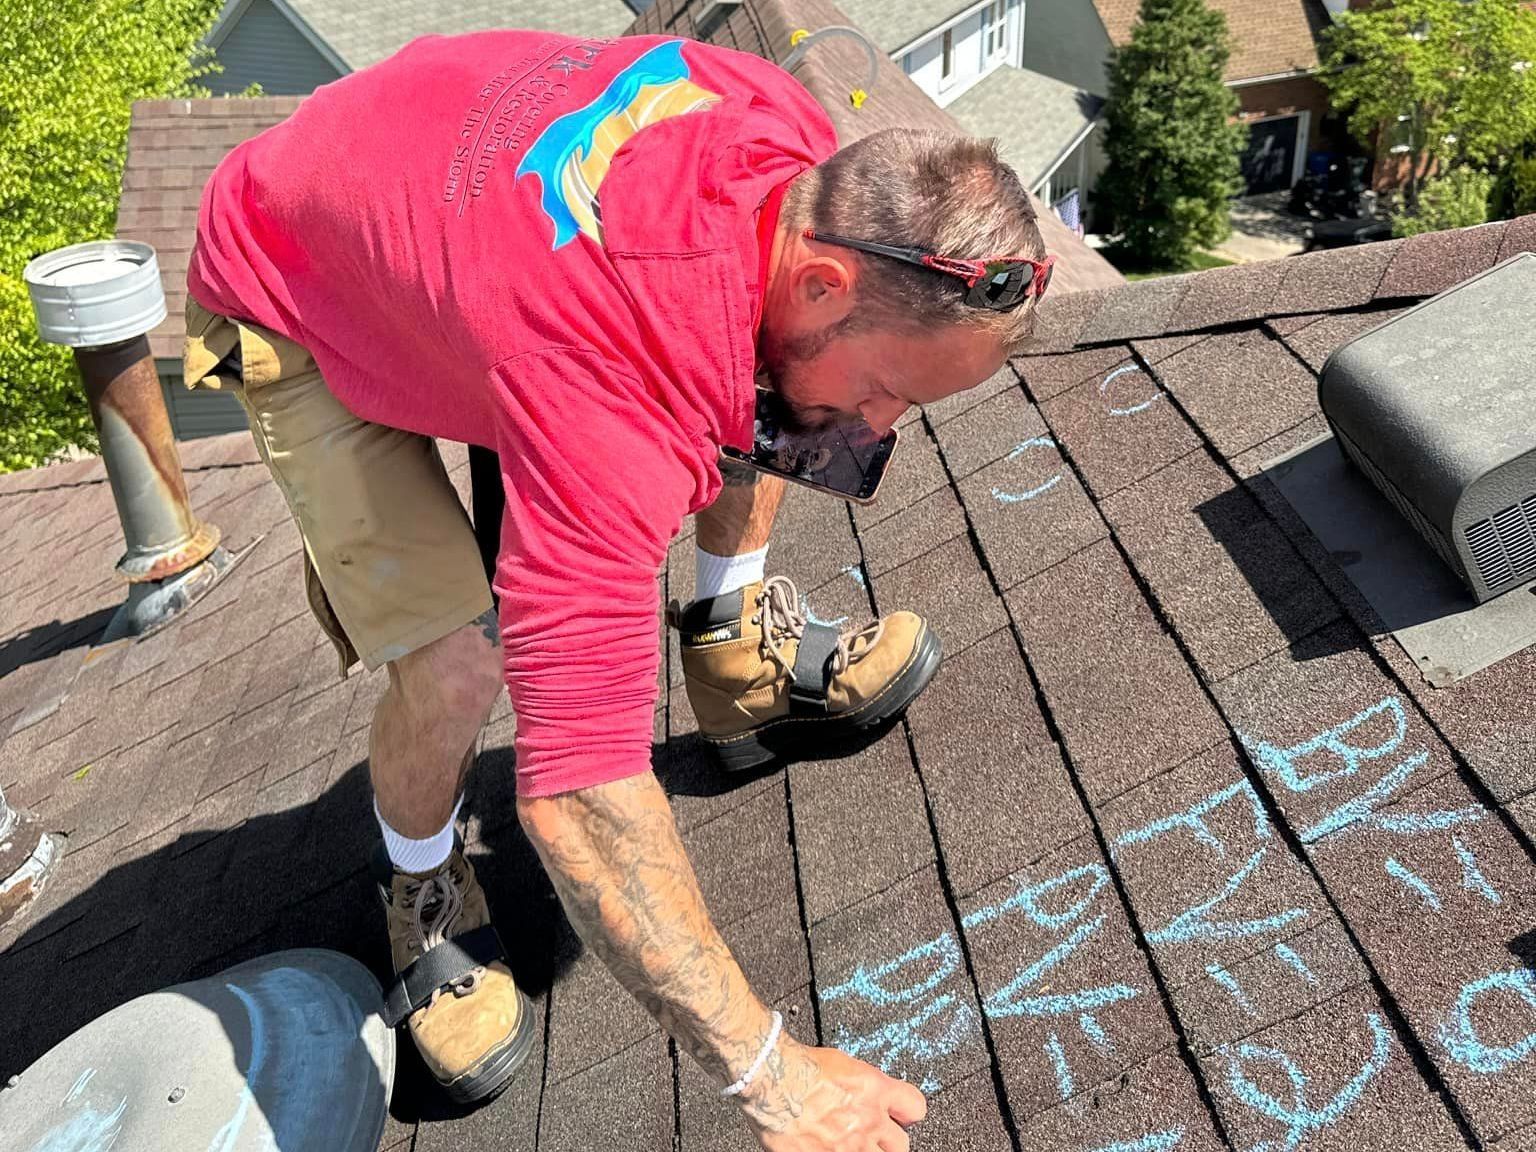
[[[269, 0], [341, 65], [378, 63], [419, 35], [458, 35], [488, 28], [531, 28], [570, 35], [617, 35], [634, 18], [625, 0]], [[209, 32], [218, 45], [250, 0], [230, 0]]]

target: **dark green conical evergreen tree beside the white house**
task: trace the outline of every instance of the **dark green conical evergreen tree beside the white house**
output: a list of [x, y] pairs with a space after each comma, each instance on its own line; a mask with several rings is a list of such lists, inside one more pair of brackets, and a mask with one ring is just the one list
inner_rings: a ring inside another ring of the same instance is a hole
[[1095, 207], [1132, 263], [1184, 267], [1230, 233], [1246, 135], [1221, 80], [1229, 55], [1227, 20], [1203, 0], [1141, 0], [1111, 60]]

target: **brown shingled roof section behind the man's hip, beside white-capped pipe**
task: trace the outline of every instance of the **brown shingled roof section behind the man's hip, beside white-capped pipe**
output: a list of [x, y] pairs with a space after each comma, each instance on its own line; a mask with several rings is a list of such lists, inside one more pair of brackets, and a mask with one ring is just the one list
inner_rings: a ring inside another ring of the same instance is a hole
[[152, 244], [158, 253], [167, 315], [149, 336], [157, 358], [181, 358], [187, 260], [197, 237], [203, 186], [229, 149], [287, 120], [300, 100], [303, 97], [141, 100], [134, 104], [117, 235]]

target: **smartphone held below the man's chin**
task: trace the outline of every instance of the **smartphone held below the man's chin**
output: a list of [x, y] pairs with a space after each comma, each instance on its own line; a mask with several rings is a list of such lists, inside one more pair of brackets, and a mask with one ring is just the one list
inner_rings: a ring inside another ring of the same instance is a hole
[[895, 429], [880, 436], [859, 419], [817, 432], [782, 432], [773, 410], [773, 393], [757, 389], [753, 450], [725, 447], [720, 455], [854, 504], [874, 499], [895, 452]]

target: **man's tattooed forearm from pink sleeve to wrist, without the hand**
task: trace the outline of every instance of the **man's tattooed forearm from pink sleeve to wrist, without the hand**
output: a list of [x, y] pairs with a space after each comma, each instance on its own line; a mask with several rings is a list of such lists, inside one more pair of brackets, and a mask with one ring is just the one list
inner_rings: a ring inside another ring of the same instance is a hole
[[770, 1012], [710, 920], [656, 779], [519, 800], [518, 811], [587, 946], [705, 1071], [739, 1077]]

